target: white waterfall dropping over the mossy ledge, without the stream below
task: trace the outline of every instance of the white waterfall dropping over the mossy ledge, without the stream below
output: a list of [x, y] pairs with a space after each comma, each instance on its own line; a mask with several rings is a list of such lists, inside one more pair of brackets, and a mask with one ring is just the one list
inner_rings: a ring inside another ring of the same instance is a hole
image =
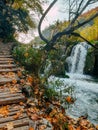
[[86, 42], [73, 47], [71, 55], [66, 59], [70, 73], [83, 74], [88, 48], [89, 45]]

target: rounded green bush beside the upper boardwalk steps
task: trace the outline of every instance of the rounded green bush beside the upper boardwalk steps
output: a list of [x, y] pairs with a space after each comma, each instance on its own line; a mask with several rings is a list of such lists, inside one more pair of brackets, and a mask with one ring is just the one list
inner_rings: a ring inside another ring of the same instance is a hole
[[33, 49], [29, 45], [20, 45], [13, 49], [13, 56], [27, 70], [38, 74], [41, 66], [41, 52], [39, 50]]

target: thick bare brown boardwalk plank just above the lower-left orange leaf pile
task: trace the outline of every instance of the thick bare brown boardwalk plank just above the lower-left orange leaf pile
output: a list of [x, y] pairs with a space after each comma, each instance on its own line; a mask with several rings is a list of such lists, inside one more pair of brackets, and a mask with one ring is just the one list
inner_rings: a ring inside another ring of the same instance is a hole
[[26, 101], [26, 98], [24, 96], [5, 98], [5, 99], [0, 99], [0, 105], [19, 103], [21, 101], [22, 102]]

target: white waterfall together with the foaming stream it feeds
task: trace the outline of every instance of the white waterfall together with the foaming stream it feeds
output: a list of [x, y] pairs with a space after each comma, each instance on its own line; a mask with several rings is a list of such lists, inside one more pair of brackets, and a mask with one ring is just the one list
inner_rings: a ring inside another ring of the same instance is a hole
[[66, 113], [72, 117], [80, 117], [88, 115], [88, 119], [95, 124], [98, 124], [98, 82], [95, 82], [93, 77], [83, 73], [85, 60], [88, 48], [90, 46], [84, 42], [73, 47], [71, 55], [66, 59], [69, 68], [70, 78], [50, 77], [49, 82], [60, 80], [64, 85], [60, 86], [63, 95], [65, 93], [64, 86], [73, 86], [76, 101], [69, 106]]

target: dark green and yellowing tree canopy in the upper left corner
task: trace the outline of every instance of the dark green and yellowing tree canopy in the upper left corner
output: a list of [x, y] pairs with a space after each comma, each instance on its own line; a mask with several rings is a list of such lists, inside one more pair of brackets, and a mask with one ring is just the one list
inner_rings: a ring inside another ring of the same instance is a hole
[[29, 12], [42, 14], [44, 0], [1, 0], [0, 1], [0, 38], [13, 36], [15, 31], [34, 28], [36, 22]]

